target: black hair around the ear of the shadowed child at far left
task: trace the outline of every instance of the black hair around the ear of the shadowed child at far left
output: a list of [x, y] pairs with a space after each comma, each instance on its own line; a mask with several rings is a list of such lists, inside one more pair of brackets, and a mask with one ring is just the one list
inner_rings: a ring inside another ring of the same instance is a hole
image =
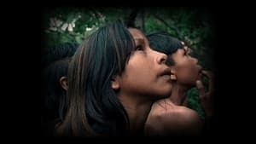
[[42, 72], [42, 102], [49, 120], [61, 118], [67, 108], [67, 91], [61, 87], [60, 78], [67, 77], [68, 63], [71, 58], [56, 60]]

